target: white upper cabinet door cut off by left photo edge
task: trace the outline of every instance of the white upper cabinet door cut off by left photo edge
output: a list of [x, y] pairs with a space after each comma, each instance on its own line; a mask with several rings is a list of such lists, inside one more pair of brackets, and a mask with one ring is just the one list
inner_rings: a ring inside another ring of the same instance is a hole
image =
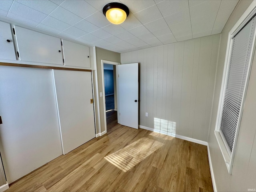
[[11, 26], [2, 21], [0, 21], [0, 45], [0, 59], [16, 60]]

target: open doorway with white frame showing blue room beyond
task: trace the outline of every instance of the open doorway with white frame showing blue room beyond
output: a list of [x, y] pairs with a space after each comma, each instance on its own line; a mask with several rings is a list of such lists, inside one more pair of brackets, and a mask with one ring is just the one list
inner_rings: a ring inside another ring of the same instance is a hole
[[105, 126], [107, 132], [117, 124], [116, 65], [102, 60], [103, 97], [105, 103]]

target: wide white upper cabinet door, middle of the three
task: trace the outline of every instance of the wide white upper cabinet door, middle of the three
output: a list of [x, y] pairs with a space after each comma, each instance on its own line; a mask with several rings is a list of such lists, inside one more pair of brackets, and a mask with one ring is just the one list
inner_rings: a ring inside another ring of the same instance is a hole
[[59, 38], [15, 26], [21, 61], [63, 65]]

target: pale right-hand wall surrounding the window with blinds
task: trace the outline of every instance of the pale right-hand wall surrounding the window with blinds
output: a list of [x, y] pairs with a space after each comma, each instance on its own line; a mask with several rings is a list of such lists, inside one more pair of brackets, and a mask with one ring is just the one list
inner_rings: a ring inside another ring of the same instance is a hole
[[220, 54], [216, 74], [216, 86], [212, 111], [212, 123], [208, 144], [217, 191], [248, 191], [256, 189], [256, 58], [252, 64], [252, 71], [244, 104], [238, 143], [234, 156], [232, 174], [228, 174], [220, 148], [214, 136], [220, 87], [224, 68], [228, 32], [236, 24], [244, 11], [251, 4], [251, 0], [243, 0], [236, 6], [221, 33]]

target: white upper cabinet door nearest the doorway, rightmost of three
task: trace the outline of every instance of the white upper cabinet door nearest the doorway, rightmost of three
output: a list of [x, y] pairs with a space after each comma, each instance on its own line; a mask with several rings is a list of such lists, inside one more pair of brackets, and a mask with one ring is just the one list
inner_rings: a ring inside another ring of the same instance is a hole
[[90, 68], [89, 47], [62, 40], [66, 66]]

